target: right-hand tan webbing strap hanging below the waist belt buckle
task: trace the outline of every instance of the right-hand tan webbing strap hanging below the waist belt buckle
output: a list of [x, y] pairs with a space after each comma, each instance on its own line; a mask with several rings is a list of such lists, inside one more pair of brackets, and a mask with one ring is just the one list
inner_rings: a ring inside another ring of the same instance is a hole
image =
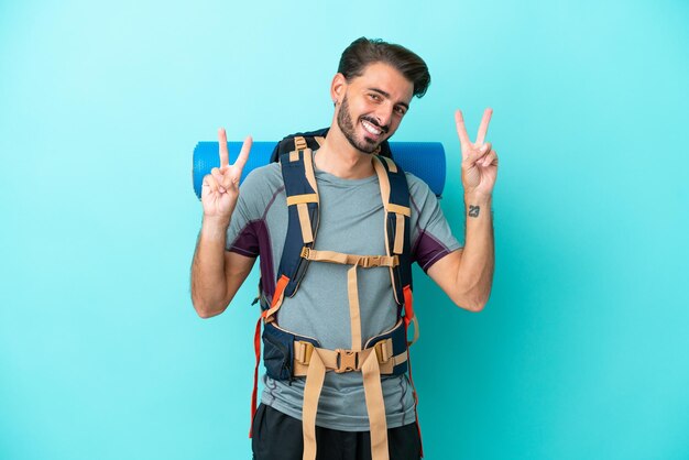
[[363, 362], [361, 373], [363, 375], [367, 412], [369, 413], [369, 429], [371, 430], [371, 458], [372, 460], [389, 460], [385, 403], [375, 353], [369, 354], [369, 358]]

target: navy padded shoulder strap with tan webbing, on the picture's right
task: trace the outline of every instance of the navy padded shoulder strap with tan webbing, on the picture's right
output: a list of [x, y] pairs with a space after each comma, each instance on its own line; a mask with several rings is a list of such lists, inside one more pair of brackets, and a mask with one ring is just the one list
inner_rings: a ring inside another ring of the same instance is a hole
[[[412, 243], [409, 222], [412, 209], [409, 208], [407, 178], [404, 171], [391, 158], [375, 156], [373, 165], [379, 177], [381, 197], [385, 208], [385, 251], [387, 255], [400, 258], [400, 265], [390, 269], [395, 300], [398, 305], [411, 304]], [[406, 295], [405, 291], [407, 291]]]

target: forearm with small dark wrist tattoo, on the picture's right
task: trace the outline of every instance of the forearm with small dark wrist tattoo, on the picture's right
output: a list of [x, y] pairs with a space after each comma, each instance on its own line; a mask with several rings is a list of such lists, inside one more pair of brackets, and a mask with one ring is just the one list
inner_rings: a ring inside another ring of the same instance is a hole
[[457, 286], [470, 310], [481, 310], [491, 294], [495, 251], [492, 197], [464, 196], [467, 229], [464, 249], [457, 271]]

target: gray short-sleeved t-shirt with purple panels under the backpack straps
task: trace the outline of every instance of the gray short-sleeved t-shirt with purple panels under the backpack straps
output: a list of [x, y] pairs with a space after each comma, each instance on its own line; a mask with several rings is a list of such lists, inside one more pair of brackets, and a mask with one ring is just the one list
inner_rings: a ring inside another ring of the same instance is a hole
[[[385, 254], [384, 211], [378, 176], [342, 179], [316, 169], [320, 218], [315, 249], [349, 254]], [[412, 260], [427, 271], [460, 248], [428, 186], [407, 173], [412, 207]], [[227, 250], [260, 255], [263, 293], [275, 292], [276, 271], [287, 230], [287, 204], [280, 164], [252, 171], [240, 188], [228, 229]], [[350, 265], [311, 262], [293, 297], [285, 297], [277, 324], [294, 333], [313, 337], [327, 349], [351, 349], [347, 291]], [[361, 336], [365, 341], [390, 330], [397, 320], [390, 271], [358, 269]], [[281, 382], [264, 376], [262, 402], [302, 418], [304, 377]], [[383, 376], [387, 427], [415, 421], [414, 397], [407, 376]], [[326, 374], [316, 425], [346, 431], [369, 430], [360, 372]]]

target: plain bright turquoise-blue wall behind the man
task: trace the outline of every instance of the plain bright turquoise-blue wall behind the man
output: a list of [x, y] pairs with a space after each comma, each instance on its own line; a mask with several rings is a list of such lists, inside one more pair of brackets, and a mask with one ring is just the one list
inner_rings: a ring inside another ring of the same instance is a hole
[[327, 125], [361, 35], [501, 155], [479, 315], [416, 271], [427, 458], [689, 458], [685, 1], [0, 1], [0, 458], [249, 458], [258, 281], [199, 319], [192, 150]]

